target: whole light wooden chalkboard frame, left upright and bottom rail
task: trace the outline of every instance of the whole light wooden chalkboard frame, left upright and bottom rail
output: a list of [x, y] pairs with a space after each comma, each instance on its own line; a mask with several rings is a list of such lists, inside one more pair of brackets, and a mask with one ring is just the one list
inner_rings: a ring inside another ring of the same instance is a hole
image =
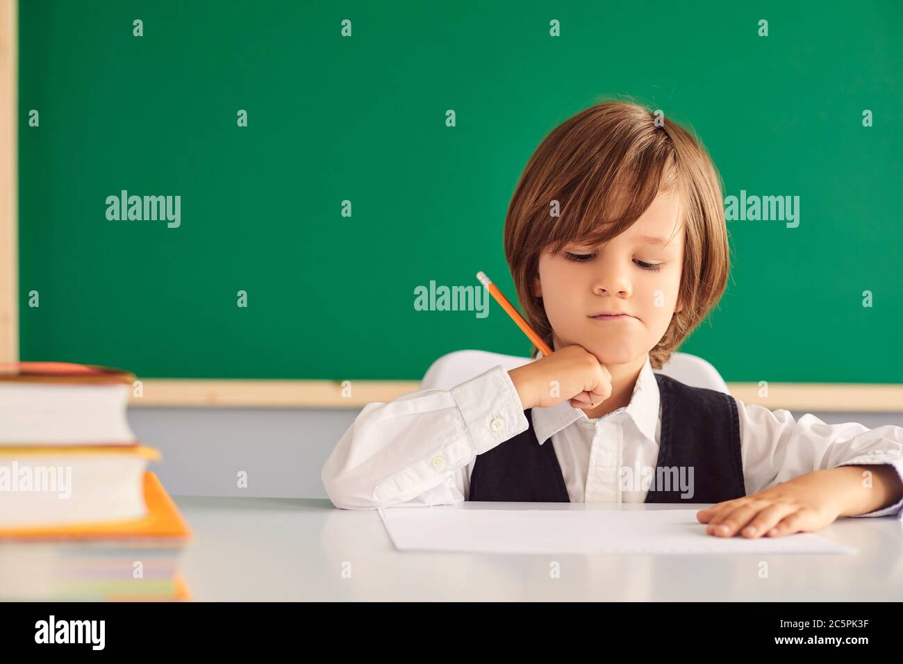
[[[19, 360], [18, 251], [18, 4], [0, 0], [0, 362]], [[140, 377], [139, 377], [140, 379]], [[416, 380], [357, 380], [343, 396], [332, 380], [142, 380], [139, 407], [358, 408], [388, 402], [420, 388]], [[899, 412], [903, 385], [770, 383], [768, 398], [755, 383], [728, 383], [747, 404], [794, 411]]]

